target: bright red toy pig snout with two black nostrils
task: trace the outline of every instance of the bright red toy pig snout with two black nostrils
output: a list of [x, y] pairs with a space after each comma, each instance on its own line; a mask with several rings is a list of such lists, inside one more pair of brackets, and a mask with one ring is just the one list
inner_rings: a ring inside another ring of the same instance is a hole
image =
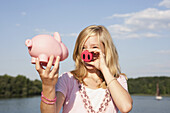
[[82, 52], [81, 58], [85, 62], [90, 62], [93, 59], [93, 53], [89, 52], [88, 50], [85, 50]]

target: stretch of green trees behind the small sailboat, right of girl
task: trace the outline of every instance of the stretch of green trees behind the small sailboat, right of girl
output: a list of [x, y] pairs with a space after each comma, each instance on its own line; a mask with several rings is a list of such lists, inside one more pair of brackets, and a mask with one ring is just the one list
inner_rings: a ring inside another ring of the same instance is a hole
[[128, 79], [130, 94], [156, 95], [156, 84], [159, 84], [160, 95], [170, 96], [170, 77], [139, 77]]

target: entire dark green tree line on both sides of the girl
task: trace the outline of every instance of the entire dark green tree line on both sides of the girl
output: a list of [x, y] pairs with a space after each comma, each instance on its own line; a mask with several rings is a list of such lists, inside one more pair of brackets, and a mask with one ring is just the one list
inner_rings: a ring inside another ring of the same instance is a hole
[[[170, 77], [130, 78], [127, 82], [130, 94], [155, 95], [156, 84], [159, 83], [160, 94], [170, 96]], [[35, 96], [41, 91], [40, 80], [30, 80], [23, 75], [0, 75], [0, 98]]]

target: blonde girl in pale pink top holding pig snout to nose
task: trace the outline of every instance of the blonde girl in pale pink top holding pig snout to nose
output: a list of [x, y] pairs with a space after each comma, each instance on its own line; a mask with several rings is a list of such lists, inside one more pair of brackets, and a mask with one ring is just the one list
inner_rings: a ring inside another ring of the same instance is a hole
[[[84, 51], [93, 54], [91, 61], [82, 60]], [[42, 113], [59, 113], [62, 107], [63, 113], [126, 113], [132, 109], [126, 76], [121, 74], [117, 50], [104, 26], [92, 25], [80, 32], [73, 52], [75, 70], [58, 77], [60, 58], [50, 70], [53, 59], [46, 69], [36, 61], [42, 79]]]

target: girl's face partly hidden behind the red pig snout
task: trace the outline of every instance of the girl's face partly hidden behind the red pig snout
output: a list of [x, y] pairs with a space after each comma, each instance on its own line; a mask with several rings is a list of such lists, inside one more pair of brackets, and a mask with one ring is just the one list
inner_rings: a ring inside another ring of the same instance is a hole
[[[99, 45], [100, 44], [100, 45]], [[89, 52], [94, 52], [95, 49], [100, 49], [102, 53], [104, 53], [104, 45], [99, 42], [97, 36], [90, 36], [84, 43], [83, 45], [83, 51], [88, 50]], [[97, 59], [97, 53], [94, 55]], [[92, 61], [93, 62], [93, 61]], [[88, 62], [84, 62], [85, 66], [87, 69], [94, 69], [95, 67], [93, 65], [88, 64]]]

